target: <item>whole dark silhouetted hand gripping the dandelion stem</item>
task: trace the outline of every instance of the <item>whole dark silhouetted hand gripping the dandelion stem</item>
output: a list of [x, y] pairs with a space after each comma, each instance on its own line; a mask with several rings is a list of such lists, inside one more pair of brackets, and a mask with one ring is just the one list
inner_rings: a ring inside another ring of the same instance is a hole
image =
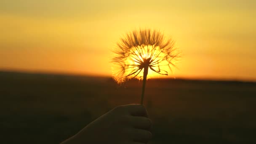
[[118, 106], [61, 144], [145, 144], [151, 120], [141, 104]]

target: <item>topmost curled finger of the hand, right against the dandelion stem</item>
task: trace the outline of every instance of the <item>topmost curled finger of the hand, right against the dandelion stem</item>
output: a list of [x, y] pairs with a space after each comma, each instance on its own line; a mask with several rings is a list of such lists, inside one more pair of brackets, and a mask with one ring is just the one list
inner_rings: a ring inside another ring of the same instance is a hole
[[133, 116], [148, 117], [146, 108], [141, 104], [126, 105], [128, 112]]

